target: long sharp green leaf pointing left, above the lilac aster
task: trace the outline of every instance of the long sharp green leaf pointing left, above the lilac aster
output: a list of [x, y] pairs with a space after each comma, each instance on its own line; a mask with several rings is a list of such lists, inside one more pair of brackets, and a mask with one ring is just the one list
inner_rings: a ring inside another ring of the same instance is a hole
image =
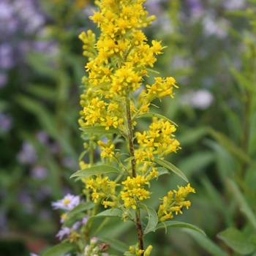
[[121, 170], [110, 165], [94, 165], [83, 170], [78, 170], [78, 172], [72, 174], [70, 178], [77, 177], [77, 176], [84, 178], [84, 177], [89, 177], [96, 174], [106, 174], [106, 173], [122, 174]]

